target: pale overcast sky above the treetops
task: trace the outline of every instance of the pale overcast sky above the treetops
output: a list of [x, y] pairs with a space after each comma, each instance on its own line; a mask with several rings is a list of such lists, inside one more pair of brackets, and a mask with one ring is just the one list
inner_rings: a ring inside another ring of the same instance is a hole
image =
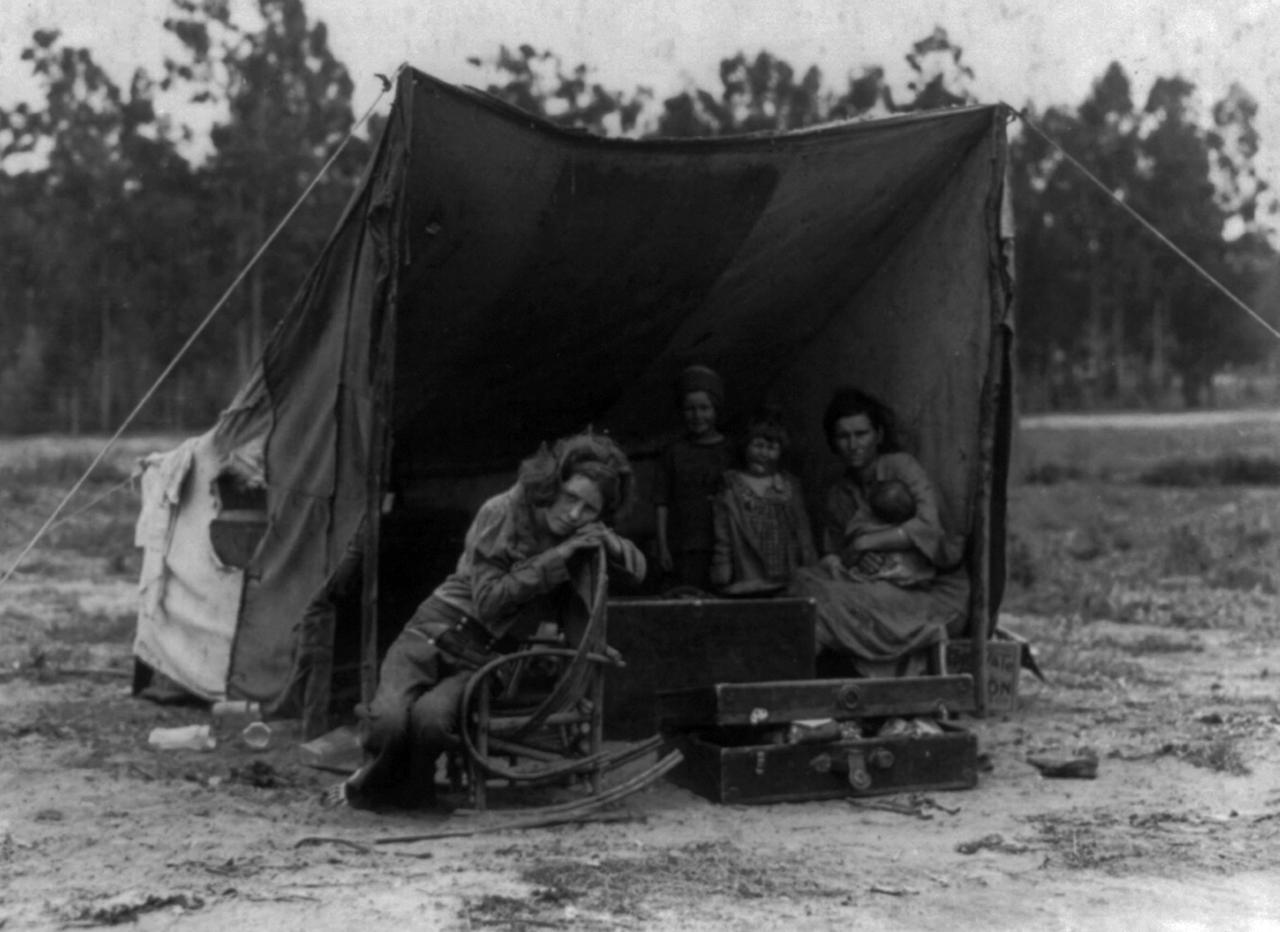
[[[236, 0], [244, 5], [247, 0]], [[549, 47], [596, 68], [609, 87], [645, 84], [659, 95], [695, 82], [717, 90], [721, 58], [768, 49], [796, 68], [819, 65], [828, 83], [882, 64], [893, 79], [902, 56], [945, 27], [975, 72], [984, 101], [1039, 109], [1079, 104], [1111, 60], [1140, 106], [1156, 77], [1180, 73], [1206, 100], [1243, 83], [1261, 106], [1265, 172], [1280, 186], [1280, 0], [306, 0], [329, 23], [352, 72], [356, 108], [376, 96], [376, 72], [408, 61], [454, 82], [476, 79], [468, 55], [499, 44]], [[160, 23], [169, 0], [0, 0], [0, 95], [29, 84], [18, 60], [37, 27], [88, 45], [122, 81], [137, 65], [159, 70], [172, 49]], [[29, 90], [27, 91], [29, 92]]]

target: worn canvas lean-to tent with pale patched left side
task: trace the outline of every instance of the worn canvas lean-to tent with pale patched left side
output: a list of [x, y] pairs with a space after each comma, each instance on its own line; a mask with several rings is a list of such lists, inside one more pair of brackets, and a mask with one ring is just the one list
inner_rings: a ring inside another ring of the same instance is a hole
[[[288, 694], [303, 606], [367, 513], [362, 634], [333, 645], [367, 687], [522, 456], [594, 425], [644, 467], [695, 361], [722, 373], [730, 416], [782, 406], [810, 493], [835, 466], [831, 390], [891, 402], [968, 534], [986, 631], [1010, 415], [1006, 118], [602, 140], [403, 69], [256, 376], [147, 471], [138, 657], [209, 698]], [[228, 562], [211, 530], [255, 513]], [[644, 508], [634, 522], [644, 538]]]

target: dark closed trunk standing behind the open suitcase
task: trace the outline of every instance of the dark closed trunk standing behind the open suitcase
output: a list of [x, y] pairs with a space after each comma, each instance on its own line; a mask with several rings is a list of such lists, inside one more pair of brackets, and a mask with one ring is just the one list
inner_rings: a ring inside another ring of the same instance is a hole
[[616, 599], [608, 641], [626, 662], [604, 686], [604, 735], [658, 731], [658, 693], [716, 682], [812, 680], [809, 599]]

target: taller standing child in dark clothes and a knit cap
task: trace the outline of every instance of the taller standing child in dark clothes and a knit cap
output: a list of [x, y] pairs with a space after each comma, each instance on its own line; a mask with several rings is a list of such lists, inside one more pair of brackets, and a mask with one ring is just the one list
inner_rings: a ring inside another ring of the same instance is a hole
[[707, 366], [689, 366], [676, 383], [685, 435], [658, 465], [654, 504], [658, 563], [676, 585], [710, 588], [712, 498], [730, 466], [730, 444], [718, 421], [724, 383]]

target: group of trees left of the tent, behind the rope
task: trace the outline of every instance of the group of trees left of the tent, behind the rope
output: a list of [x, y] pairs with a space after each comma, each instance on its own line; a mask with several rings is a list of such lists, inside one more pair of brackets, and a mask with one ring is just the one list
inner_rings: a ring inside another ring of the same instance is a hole
[[[220, 0], [174, 0], [164, 74], [116, 84], [93, 52], [37, 31], [38, 105], [0, 109], [0, 431], [113, 430], [353, 124], [353, 84], [301, 0], [244, 28]], [[219, 114], [207, 138], [157, 100]], [[140, 426], [216, 417], [355, 189], [353, 140]]]

